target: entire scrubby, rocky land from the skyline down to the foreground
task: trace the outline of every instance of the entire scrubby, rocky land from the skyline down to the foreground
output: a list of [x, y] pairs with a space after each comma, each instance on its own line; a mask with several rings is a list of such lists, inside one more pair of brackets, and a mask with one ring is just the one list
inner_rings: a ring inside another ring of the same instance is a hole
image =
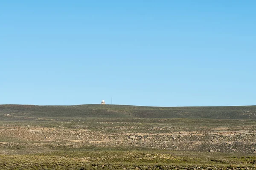
[[0, 105], [0, 170], [256, 169], [256, 106]]

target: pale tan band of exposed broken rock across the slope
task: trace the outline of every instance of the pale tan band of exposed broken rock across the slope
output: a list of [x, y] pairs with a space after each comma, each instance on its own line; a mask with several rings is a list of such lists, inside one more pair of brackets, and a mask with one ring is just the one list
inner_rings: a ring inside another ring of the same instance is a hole
[[[47, 127], [0, 127], [0, 136], [8, 142], [0, 147], [24, 145], [27, 147], [82, 147], [137, 146], [164, 150], [256, 153], [256, 131], [173, 131], [171, 133], [106, 133], [86, 129], [63, 129]], [[33, 145], [29, 145], [33, 143]]]

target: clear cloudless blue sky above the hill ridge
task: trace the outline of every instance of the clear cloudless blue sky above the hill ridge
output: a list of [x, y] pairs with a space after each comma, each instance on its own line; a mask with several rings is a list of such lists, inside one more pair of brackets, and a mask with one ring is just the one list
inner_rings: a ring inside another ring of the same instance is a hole
[[0, 2], [0, 104], [256, 105], [255, 0]]

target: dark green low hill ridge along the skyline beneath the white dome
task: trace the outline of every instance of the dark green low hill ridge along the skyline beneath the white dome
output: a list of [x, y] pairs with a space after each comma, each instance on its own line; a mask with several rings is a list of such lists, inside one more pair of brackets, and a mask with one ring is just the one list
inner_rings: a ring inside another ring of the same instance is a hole
[[[7, 115], [7, 116], [4, 116]], [[11, 115], [11, 116], [8, 116]], [[146, 107], [130, 105], [0, 105], [0, 117], [25, 118], [191, 118], [256, 119], [256, 106]]]

